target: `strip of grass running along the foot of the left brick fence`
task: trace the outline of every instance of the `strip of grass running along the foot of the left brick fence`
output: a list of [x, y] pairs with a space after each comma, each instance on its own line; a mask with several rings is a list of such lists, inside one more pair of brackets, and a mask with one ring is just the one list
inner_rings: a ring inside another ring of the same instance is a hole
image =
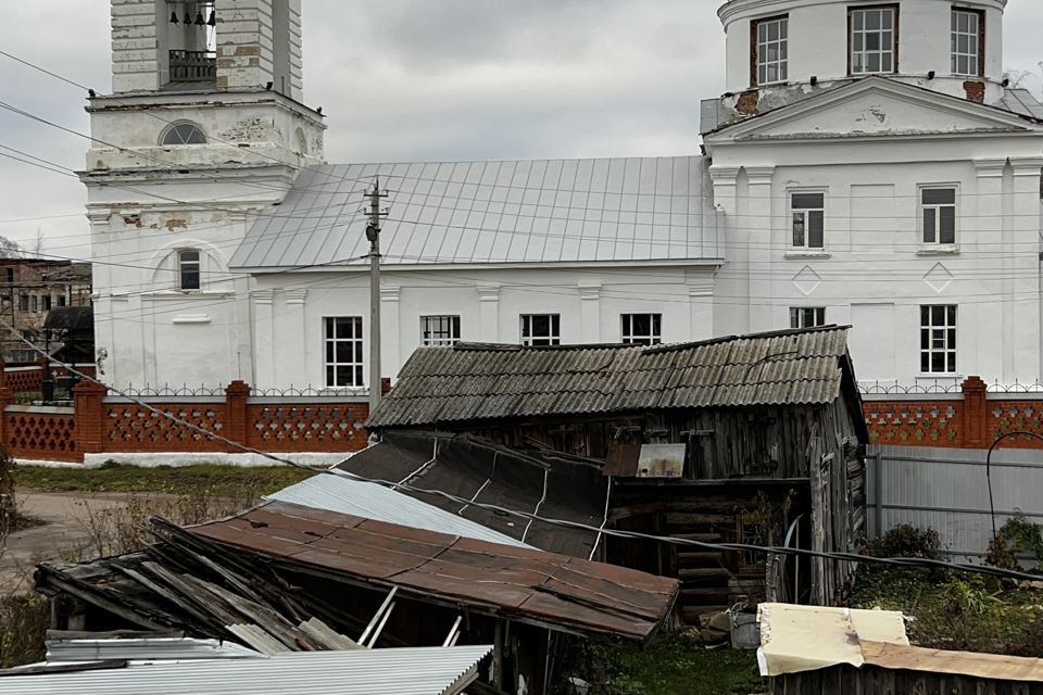
[[239, 468], [201, 465], [174, 468], [139, 468], [106, 464], [101, 468], [45, 468], [15, 466], [16, 488], [43, 492], [120, 492], [241, 497], [243, 490], [266, 495], [314, 473], [291, 466]]

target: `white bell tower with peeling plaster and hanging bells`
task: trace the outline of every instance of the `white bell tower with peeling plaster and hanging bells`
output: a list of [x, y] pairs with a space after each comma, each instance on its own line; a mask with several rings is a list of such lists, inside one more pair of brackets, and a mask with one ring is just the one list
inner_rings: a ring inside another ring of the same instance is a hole
[[251, 379], [253, 278], [227, 262], [324, 162], [301, 0], [110, 0], [112, 93], [90, 93], [96, 342], [116, 386]]

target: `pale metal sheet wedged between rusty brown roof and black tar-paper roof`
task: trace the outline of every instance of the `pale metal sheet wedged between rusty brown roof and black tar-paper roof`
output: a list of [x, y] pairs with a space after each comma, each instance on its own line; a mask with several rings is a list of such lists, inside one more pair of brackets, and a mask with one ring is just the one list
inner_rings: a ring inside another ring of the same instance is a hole
[[[381, 446], [377, 444], [376, 446]], [[289, 502], [313, 509], [387, 521], [426, 531], [467, 539], [531, 547], [455, 514], [414, 500], [384, 485], [340, 476], [315, 476], [268, 495], [265, 500]]]

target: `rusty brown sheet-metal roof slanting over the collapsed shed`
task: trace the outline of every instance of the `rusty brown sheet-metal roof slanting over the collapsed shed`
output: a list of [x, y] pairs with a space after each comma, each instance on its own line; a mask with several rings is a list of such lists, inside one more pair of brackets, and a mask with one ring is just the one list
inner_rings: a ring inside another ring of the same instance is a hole
[[290, 568], [398, 586], [400, 595], [638, 642], [656, 632], [678, 592], [675, 579], [614, 565], [282, 502], [186, 531]]

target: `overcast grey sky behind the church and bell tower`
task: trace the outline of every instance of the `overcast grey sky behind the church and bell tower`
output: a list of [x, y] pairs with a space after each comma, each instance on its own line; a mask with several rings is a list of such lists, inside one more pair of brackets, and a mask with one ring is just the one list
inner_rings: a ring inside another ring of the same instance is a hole
[[[717, 4], [304, 0], [304, 101], [338, 163], [694, 153], [699, 100], [724, 89]], [[3, 5], [0, 49], [110, 90], [106, 0]], [[1036, 92], [1041, 30], [1043, 2], [1011, 0], [1004, 67]], [[87, 132], [81, 90], [3, 56], [0, 76], [0, 100]], [[9, 111], [0, 144], [75, 169], [88, 146]], [[84, 200], [78, 180], [0, 157], [0, 235], [88, 257]]]

